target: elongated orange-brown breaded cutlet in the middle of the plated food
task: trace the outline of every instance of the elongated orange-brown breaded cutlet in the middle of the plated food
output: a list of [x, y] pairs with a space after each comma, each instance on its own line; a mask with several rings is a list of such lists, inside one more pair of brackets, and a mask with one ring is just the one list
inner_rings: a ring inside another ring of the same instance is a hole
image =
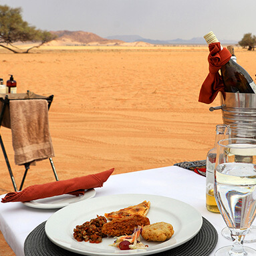
[[120, 235], [130, 235], [135, 227], [150, 225], [147, 217], [141, 215], [131, 215], [120, 219], [113, 219], [102, 226], [102, 233], [112, 237]]

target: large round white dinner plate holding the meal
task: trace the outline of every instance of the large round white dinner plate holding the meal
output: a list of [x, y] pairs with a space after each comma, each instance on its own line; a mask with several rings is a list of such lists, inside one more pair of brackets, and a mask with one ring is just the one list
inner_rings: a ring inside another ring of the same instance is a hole
[[[174, 235], [168, 241], [156, 243], [142, 239], [148, 245], [146, 250], [121, 251], [117, 247], [109, 246], [114, 242], [113, 237], [106, 237], [98, 244], [74, 239], [73, 230], [76, 225], [82, 225], [96, 218], [96, 215], [118, 211], [144, 200], [151, 203], [147, 214], [151, 224], [160, 221], [172, 224]], [[97, 197], [60, 209], [47, 220], [45, 233], [55, 245], [82, 255], [150, 255], [172, 249], [192, 239], [201, 229], [202, 223], [201, 214], [181, 201], [154, 195], [126, 194]]]

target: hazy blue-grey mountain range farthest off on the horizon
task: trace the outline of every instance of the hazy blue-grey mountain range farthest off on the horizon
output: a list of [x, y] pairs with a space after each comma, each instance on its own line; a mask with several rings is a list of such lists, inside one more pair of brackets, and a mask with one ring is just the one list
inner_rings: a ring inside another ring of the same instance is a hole
[[[192, 39], [172, 39], [172, 40], [154, 40], [154, 39], [146, 39], [141, 37], [140, 35], [112, 35], [106, 37], [108, 39], [119, 39], [126, 42], [134, 42], [134, 41], [144, 41], [146, 43], [152, 44], [206, 44], [206, 41], [203, 37], [193, 37]], [[234, 40], [221, 40], [223, 44], [236, 44], [237, 41]]]

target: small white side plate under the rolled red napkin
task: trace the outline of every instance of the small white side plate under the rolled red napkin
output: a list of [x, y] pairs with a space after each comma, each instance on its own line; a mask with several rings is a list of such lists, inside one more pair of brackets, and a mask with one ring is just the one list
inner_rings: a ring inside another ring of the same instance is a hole
[[59, 209], [66, 207], [72, 203], [77, 203], [79, 201], [84, 201], [90, 199], [96, 195], [96, 190], [94, 188], [86, 190], [84, 195], [75, 197], [74, 195], [60, 195], [55, 197], [47, 197], [46, 199], [37, 199], [34, 201], [24, 202], [24, 205], [32, 208], [38, 209]]

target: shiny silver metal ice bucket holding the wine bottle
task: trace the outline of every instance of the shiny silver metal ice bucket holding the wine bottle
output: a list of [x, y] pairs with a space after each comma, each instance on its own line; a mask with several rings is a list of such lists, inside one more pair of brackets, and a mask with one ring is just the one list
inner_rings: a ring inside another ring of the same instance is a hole
[[223, 124], [256, 124], [256, 94], [237, 94], [226, 92], [221, 95], [221, 106], [209, 110], [222, 110]]

